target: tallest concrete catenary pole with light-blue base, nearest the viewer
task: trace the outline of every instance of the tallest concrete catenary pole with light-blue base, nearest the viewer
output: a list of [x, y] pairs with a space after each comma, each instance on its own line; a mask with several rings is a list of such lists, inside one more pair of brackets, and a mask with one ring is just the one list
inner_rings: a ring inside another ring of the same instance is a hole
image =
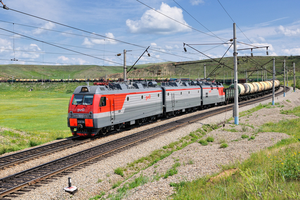
[[238, 53], [236, 51], [236, 30], [235, 23], [233, 23], [234, 124], [238, 125]]

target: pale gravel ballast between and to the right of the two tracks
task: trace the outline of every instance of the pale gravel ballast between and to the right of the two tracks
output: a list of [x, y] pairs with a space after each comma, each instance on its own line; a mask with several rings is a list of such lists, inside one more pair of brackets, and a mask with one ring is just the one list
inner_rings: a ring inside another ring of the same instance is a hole
[[[300, 94], [298, 90], [296, 92], [287, 92], [286, 97], [283, 95], [275, 98], [275, 103], [280, 103], [279, 106], [283, 105], [284, 107], [274, 108], [263, 108], [256, 112], [251, 113], [252, 115], [246, 115], [240, 117], [239, 123], [249, 124], [245, 125], [233, 125], [234, 121], [230, 121], [228, 124], [225, 124], [225, 129], [234, 128], [238, 132], [228, 132], [222, 130], [223, 127], [211, 131], [203, 138], [207, 136], [213, 136], [214, 142], [209, 143], [209, 145], [202, 146], [201, 144], [194, 142], [190, 145], [187, 145], [185, 148], [173, 152], [169, 157], [164, 158], [163, 160], [158, 161], [155, 165], [140, 171], [135, 174], [133, 177], [126, 180], [133, 181], [134, 178], [139, 177], [140, 175], [148, 176], [151, 180], [154, 180], [153, 177], [159, 173], [164, 174], [168, 169], [170, 169], [175, 162], [179, 162], [180, 166], [177, 167], [178, 173], [168, 178], [160, 178], [159, 180], [150, 181], [143, 186], [136, 187], [128, 191], [128, 195], [124, 198], [126, 200], [133, 199], [166, 199], [167, 196], [173, 194], [174, 188], [170, 187], [171, 182], [180, 182], [180, 181], [192, 181], [197, 177], [204, 175], [211, 175], [213, 173], [220, 171], [220, 165], [225, 165], [229, 163], [234, 163], [236, 160], [242, 161], [247, 159], [252, 152], [259, 151], [266, 147], [272, 146], [274, 143], [280, 141], [281, 139], [289, 137], [284, 133], [258, 133], [255, 136], [255, 139], [241, 139], [242, 134], [247, 134], [251, 136], [254, 130], [260, 125], [268, 122], [278, 122], [282, 119], [292, 119], [297, 118], [294, 115], [282, 115], [280, 110], [292, 109], [295, 106], [300, 105]], [[269, 103], [272, 99], [265, 100], [261, 102]], [[287, 101], [288, 100], [288, 101]], [[252, 104], [239, 108], [239, 112], [248, 110], [255, 106], [259, 105]], [[214, 109], [214, 108], [211, 108]], [[197, 111], [201, 112], [201, 111]], [[194, 115], [195, 112], [188, 115]], [[226, 117], [225, 117], [226, 115]], [[132, 147], [126, 151], [115, 154], [107, 159], [101, 160], [98, 163], [95, 163], [91, 166], [87, 166], [83, 169], [80, 169], [76, 172], [73, 172], [69, 176], [72, 178], [72, 185], [78, 188], [78, 192], [71, 196], [69, 193], [66, 193], [63, 188], [67, 187], [68, 176], [63, 176], [50, 182], [49, 184], [42, 184], [41, 187], [36, 188], [30, 192], [27, 192], [23, 195], [20, 195], [15, 200], [21, 199], [89, 199], [97, 194], [100, 194], [104, 191], [105, 196], [117, 193], [117, 188], [110, 189], [114, 183], [118, 181], [124, 181], [125, 179], [114, 173], [114, 169], [117, 167], [125, 167], [127, 163], [131, 163], [134, 160], [139, 159], [140, 157], [149, 155], [155, 149], [160, 149], [164, 145], [168, 145], [171, 142], [177, 141], [179, 138], [189, 135], [190, 132], [197, 130], [202, 127], [203, 124], [217, 124], [224, 119], [232, 117], [232, 111], [227, 113], [221, 113], [215, 115], [214, 117], [205, 118], [203, 120], [196, 121], [194, 123], [188, 124], [182, 128], [176, 129], [176, 131], [168, 132], [162, 136], [151, 139], [148, 142], [145, 142], [141, 145]], [[182, 117], [176, 117], [182, 118]], [[176, 118], [168, 119], [169, 121], [174, 121]], [[39, 164], [49, 162], [50, 160], [55, 160], [57, 158], [63, 157], [67, 154], [72, 154], [78, 151], [81, 151], [91, 146], [99, 145], [113, 139], [117, 139], [126, 135], [130, 135], [134, 132], [148, 129], [150, 127], [158, 126], [159, 123], [165, 124], [168, 120], [163, 122], [158, 122], [155, 124], [149, 124], [147, 126], [139, 127], [134, 130], [125, 131], [119, 134], [110, 135], [99, 140], [90, 142], [88, 144], [83, 144], [75, 148], [70, 148], [64, 151], [60, 151], [48, 156], [41, 157], [39, 159], [31, 160], [20, 165], [16, 165], [12, 168], [1, 170], [0, 177], [5, 177], [7, 175], [28, 169], [29, 167], [37, 166]], [[233, 127], [234, 126], [234, 127]], [[246, 131], [245, 131], [246, 127]], [[254, 127], [254, 129], [252, 128]], [[245, 132], [242, 132], [244, 130]], [[237, 140], [237, 141], [236, 141]], [[226, 141], [228, 144], [227, 148], [220, 148], [220, 141]], [[121, 184], [122, 187], [124, 183]]]

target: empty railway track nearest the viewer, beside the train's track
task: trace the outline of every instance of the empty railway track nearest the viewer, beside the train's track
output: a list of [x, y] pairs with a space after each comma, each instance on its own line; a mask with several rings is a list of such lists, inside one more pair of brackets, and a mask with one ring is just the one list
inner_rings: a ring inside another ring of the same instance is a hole
[[[283, 92], [279, 92], [277, 93], [277, 95], [281, 93]], [[245, 101], [239, 103], [239, 106], [245, 106], [256, 102], [260, 102], [265, 99], [268, 99], [269, 97], [270, 95], [255, 100]], [[28, 192], [31, 189], [35, 189], [35, 187], [41, 186], [37, 183], [47, 184], [48, 182], [53, 181], [53, 179], [56, 179], [54, 177], [68, 175], [73, 171], [89, 166], [93, 163], [98, 162], [99, 160], [105, 159], [106, 157], [110, 157], [114, 154], [117, 154], [120, 151], [124, 151], [128, 148], [138, 145], [141, 142], [148, 141], [149, 138], [158, 136], [159, 134], [162, 134], [168, 130], [231, 109], [232, 106], [229, 106], [227, 108], [217, 108], [212, 111], [207, 111], [198, 115], [182, 118], [180, 120], [176, 120], [138, 133], [134, 133], [129, 136], [125, 136], [68, 155], [66, 157], [59, 158], [48, 163], [44, 163], [31, 169], [24, 170], [22, 172], [1, 178], [0, 197], [4, 197], [1, 200], [7, 200], [8, 198], [13, 198], [17, 195], [23, 194], [24, 192]]]

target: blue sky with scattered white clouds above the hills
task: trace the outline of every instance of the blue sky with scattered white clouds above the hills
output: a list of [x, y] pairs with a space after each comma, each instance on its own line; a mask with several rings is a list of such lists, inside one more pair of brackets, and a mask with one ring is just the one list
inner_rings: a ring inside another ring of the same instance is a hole
[[[188, 46], [185, 46], [187, 52], [184, 52], [183, 43], [225, 43], [233, 38], [234, 22], [237, 25], [237, 41], [241, 42], [238, 43], [238, 49], [250, 48], [251, 46], [242, 44], [246, 43], [253, 46], [269, 46], [270, 57], [300, 55], [298, 0], [139, 1], [2, 0], [10, 9], [98, 35], [13, 10], [1, 9], [0, 28], [4, 30], [0, 29], [0, 62], [122, 65], [123, 55], [116, 54], [126, 49], [127, 65], [131, 65], [148, 46], [151, 57], [148, 57], [146, 52], [137, 64], [207, 59], [205, 55], [218, 58], [225, 54], [229, 48], [228, 44], [193, 46], [205, 54], [202, 55]], [[65, 49], [26, 39], [24, 36], [13, 34], [13, 31]], [[225, 57], [232, 56], [232, 53], [231, 48]], [[250, 53], [251, 50], [242, 50], [238, 52], [238, 56]], [[266, 55], [265, 53], [266, 48], [253, 49], [253, 55]], [[11, 61], [13, 58], [18, 61]]]

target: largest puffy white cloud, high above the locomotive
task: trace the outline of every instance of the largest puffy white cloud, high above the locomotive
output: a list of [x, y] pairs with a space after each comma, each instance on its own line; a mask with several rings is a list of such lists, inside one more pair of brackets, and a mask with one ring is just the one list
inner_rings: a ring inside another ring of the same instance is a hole
[[[160, 13], [158, 13], [158, 12]], [[191, 31], [185, 25], [187, 22], [183, 19], [182, 10], [178, 7], [170, 7], [164, 2], [161, 3], [159, 10], [147, 10], [140, 20], [126, 20], [126, 25], [129, 27], [131, 33], [156, 33], [156, 34], [172, 34], [177, 32]], [[162, 15], [163, 13], [164, 15]], [[175, 19], [178, 22], [168, 18]]]

